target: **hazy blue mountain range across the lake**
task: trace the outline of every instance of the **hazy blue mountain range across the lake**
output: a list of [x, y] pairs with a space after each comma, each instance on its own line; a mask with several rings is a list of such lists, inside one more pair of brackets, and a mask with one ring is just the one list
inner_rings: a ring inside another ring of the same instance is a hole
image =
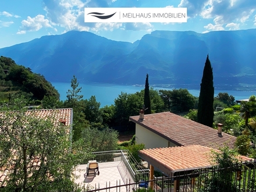
[[1, 48], [0, 55], [30, 67], [49, 81], [150, 84], [200, 88], [205, 59], [215, 88], [255, 89], [256, 29], [237, 31], [152, 31], [136, 42], [108, 40], [86, 31], [47, 35]]

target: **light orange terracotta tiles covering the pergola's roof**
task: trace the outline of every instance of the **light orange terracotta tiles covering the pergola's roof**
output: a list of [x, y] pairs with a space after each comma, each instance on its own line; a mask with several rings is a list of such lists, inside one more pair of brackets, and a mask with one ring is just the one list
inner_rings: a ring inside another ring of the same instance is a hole
[[[209, 155], [211, 150], [216, 149], [205, 147], [202, 145], [189, 145], [182, 147], [166, 147], [140, 150], [138, 155], [145, 161], [151, 161], [155, 164], [159, 163], [170, 172], [180, 169], [193, 169], [211, 166]], [[241, 161], [250, 161], [251, 158], [239, 155], [237, 157]]]

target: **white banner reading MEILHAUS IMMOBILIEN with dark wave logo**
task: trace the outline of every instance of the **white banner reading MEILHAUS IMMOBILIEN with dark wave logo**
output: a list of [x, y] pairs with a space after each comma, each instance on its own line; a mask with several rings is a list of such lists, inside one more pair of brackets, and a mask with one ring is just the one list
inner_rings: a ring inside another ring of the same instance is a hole
[[84, 8], [84, 22], [187, 22], [187, 8]]

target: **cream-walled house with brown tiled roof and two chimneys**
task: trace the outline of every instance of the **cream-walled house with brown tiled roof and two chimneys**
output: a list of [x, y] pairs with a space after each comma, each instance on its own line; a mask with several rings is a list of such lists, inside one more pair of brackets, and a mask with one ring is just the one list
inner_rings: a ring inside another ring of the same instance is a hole
[[170, 112], [131, 116], [136, 123], [136, 142], [145, 148], [202, 145], [218, 149], [227, 144], [234, 147], [236, 137]]

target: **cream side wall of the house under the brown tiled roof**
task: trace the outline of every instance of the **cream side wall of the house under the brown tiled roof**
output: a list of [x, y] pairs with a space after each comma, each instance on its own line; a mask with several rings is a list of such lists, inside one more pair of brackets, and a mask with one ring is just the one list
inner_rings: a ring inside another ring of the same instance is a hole
[[162, 148], [176, 146], [165, 138], [145, 129], [143, 126], [136, 123], [136, 143], [144, 143], [145, 148]]

